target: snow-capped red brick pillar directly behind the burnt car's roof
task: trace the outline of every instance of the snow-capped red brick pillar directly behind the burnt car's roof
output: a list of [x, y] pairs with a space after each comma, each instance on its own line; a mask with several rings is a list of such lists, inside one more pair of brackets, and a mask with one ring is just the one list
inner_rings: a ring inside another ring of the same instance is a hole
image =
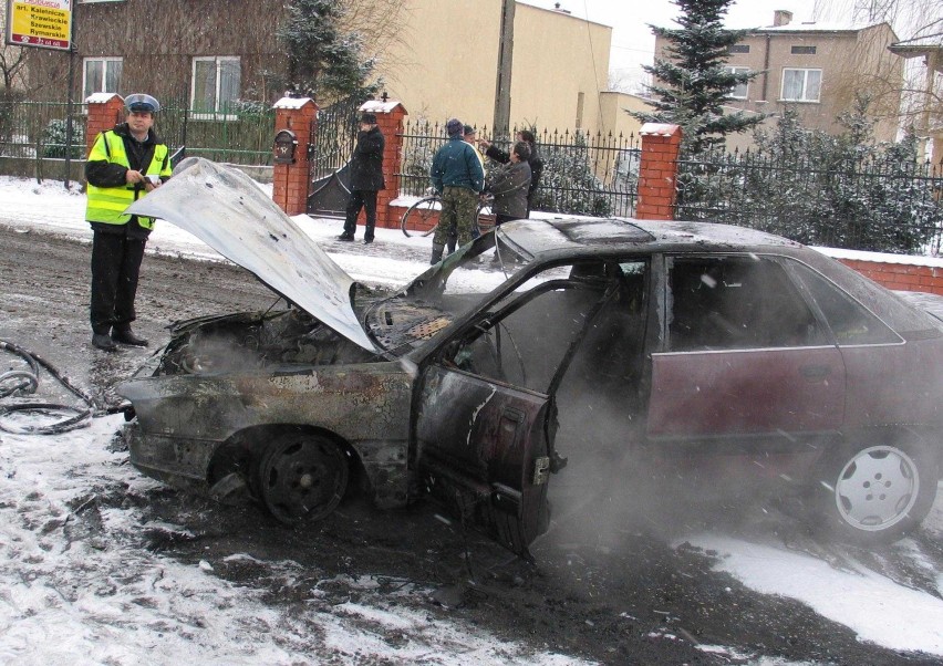
[[671, 220], [674, 218], [681, 127], [645, 123], [639, 135], [642, 137], [642, 164], [635, 217], [641, 220]]

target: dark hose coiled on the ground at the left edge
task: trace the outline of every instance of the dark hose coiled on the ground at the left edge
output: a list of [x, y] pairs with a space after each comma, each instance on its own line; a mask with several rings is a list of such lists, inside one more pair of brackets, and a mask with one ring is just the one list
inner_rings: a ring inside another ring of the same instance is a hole
[[[19, 356], [30, 368], [29, 371], [15, 370], [0, 374], [0, 399], [10, 396], [22, 397], [34, 394], [39, 387], [39, 374], [40, 368], [42, 368], [52, 375], [71, 394], [87, 405], [86, 408], [38, 402], [0, 405], [0, 430], [15, 435], [56, 435], [87, 426], [89, 419], [93, 416], [104, 416], [105, 414], [112, 414], [117, 410], [103, 409], [95, 402], [95, 398], [72, 384], [68, 377], [64, 377], [51, 363], [45, 361], [39, 354], [29, 352], [8, 340], [0, 340], [0, 350]], [[43, 426], [14, 427], [4, 423], [4, 418], [8, 415], [22, 412], [41, 414], [44, 416], [65, 415], [65, 417], [61, 420]]]

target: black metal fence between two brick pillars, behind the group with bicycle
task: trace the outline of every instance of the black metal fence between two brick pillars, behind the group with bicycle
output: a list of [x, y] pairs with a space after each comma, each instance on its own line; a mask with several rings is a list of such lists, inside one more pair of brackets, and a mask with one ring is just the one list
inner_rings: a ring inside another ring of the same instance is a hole
[[[535, 132], [543, 174], [535, 192], [535, 210], [582, 215], [631, 216], [635, 210], [641, 148], [634, 135], [584, 132]], [[487, 136], [487, 127], [478, 136]], [[419, 196], [429, 187], [435, 152], [446, 142], [445, 128], [426, 121], [406, 123], [403, 134], [400, 192]], [[495, 142], [502, 150], [510, 141]], [[495, 167], [485, 160], [486, 174]]]

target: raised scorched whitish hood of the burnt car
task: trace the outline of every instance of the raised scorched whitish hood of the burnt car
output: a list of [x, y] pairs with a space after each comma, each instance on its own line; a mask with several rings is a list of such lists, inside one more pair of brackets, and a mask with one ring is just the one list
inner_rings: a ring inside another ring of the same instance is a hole
[[376, 351], [353, 310], [353, 279], [242, 171], [189, 157], [127, 212], [189, 231], [311, 316]]

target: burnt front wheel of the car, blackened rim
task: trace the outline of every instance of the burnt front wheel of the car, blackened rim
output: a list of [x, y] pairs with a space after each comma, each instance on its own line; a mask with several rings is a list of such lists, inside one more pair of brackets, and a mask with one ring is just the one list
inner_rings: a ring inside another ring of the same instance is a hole
[[348, 487], [346, 456], [333, 441], [292, 433], [277, 438], [259, 466], [259, 491], [280, 522], [321, 520], [340, 503]]

